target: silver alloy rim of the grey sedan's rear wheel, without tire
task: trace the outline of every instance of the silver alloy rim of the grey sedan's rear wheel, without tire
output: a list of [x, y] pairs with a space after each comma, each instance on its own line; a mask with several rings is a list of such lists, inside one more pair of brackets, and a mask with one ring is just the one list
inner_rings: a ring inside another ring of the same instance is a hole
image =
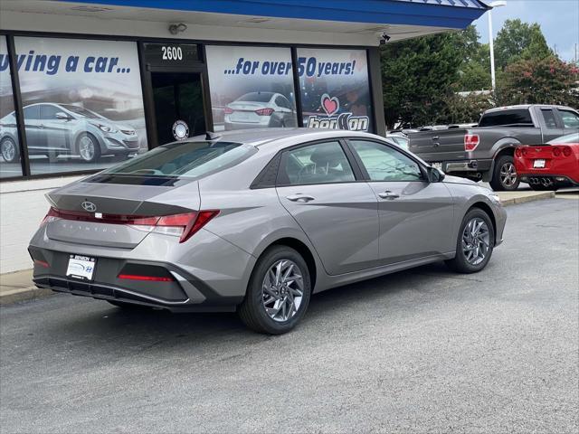
[[286, 322], [298, 313], [304, 296], [301, 270], [295, 262], [275, 262], [261, 284], [265, 312], [276, 322]]

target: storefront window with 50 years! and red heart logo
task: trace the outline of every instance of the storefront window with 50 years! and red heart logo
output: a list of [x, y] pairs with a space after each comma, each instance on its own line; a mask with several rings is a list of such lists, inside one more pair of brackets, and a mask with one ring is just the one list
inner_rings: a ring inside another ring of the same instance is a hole
[[365, 50], [298, 50], [304, 127], [374, 131]]

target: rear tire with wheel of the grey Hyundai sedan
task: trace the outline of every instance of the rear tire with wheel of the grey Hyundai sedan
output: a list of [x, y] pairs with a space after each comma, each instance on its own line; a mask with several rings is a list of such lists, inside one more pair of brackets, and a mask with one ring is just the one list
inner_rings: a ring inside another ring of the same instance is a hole
[[[289, 332], [308, 309], [310, 281], [308, 265], [296, 250], [287, 246], [266, 250], [255, 264], [245, 298], [238, 308], [242, 322], [258, 333]], [[297, 309], [290, 308], [296, 304]]]

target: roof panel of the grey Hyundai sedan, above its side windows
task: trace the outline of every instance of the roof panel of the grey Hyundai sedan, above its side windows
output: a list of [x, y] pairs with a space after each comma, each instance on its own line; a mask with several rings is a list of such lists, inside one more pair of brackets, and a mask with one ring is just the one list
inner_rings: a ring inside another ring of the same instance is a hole
[[[209, 133], [216, 140], [223, 140], [228, 142], [243, 143], [252, 146], [262, 146], [276, 140], [296, 137], [301, 142], [308, 142], [313, 140], [323, 140], [326, 138], [339, 137], [374, 137], [381, 138], [374, 134], [365, 133], [361, 131], [349, 131], [344, 129], [318, 129], [318, 128], [252, 128], [239, 129], [234, 131], [220, 131], [216, 133]], [[190, 141], [205, 141], [205, 135], [191, 137]]]

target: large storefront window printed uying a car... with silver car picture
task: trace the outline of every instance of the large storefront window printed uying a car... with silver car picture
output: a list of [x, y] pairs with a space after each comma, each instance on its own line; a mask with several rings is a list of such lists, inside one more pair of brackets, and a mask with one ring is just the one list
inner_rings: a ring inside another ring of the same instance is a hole
[[136, 42], [14, 38], [33, 175], [147, 150]]

